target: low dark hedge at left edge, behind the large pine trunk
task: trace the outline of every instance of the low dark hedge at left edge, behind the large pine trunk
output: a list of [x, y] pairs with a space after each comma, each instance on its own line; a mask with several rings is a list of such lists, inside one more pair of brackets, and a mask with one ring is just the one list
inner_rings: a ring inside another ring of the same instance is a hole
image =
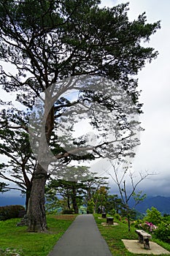
[[0, 220], [18, 218], [19, 211], [24, 211], [23, 206], [0, 206]]

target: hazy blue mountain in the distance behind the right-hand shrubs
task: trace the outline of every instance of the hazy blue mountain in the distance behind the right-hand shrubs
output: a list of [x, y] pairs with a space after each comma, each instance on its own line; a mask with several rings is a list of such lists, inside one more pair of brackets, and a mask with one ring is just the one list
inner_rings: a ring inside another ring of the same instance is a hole
[[[134, 206], [134, 201], [131, 200], [129, 202], [129, 206]], [[156, 197], [147, 197], [144, 199], [141, 203], [139, 203], [135, 208], [136, 211], [141, 212], [142, 214], [145, 214], [148, 208], [151, 207], [157, 208], [158, 211], [161, 212], [161, 214], [170, 214], [170, 197], [163, 197], [161, 195], [158, 195]]]

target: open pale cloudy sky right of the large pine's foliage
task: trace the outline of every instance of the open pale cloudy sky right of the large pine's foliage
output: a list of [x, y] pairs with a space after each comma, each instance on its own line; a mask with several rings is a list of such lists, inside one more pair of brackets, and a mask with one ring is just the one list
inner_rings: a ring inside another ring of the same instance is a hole
[[[102, 6], [112, 7], [124, 0], [103, 0]], [[129, 19], [134, 20], [146, 12], [147, 21], [161, 20], [161, 29], [150, 39], [150, 47], [159, 56], [139, 72], [140, 101], [144, 103], [140, 117], [141, 146], [134, 159], [134, 170], [158, 173], [140, 184], [147, 195], [170, 196], [170, 1], [130, 0]]]

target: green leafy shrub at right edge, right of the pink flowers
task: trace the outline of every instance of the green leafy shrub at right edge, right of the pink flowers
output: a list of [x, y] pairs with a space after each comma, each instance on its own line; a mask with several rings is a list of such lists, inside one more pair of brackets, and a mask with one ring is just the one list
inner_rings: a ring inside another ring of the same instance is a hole
[[169, 243], [170, 242], [170, 225], [165, 222], [161, 222], [158, 228], [155, 230], [156, 238]]

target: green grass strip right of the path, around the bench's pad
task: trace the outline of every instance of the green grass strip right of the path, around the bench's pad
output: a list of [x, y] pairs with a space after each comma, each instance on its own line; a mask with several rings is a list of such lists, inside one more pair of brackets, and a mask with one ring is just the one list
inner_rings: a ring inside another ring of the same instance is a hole
[[[123, 241], [121, 239], [132, 239], [132, 240], [138, 240], [138, 236], [135, 233], [136, 227], [131, 227], [131, 232], [128, 232], [128, 225], [127, 223], [120, 222], [115, 219], [115, 222], [118, 223], [116, 226], [107, 226], [104, 227], [101, 225], [101, 222], [106, 222], [106, 219], [98, 219], [98, 217], [101, 217], [101, 214], [94, 214], [94, 217], [96, 219], [96, 223], [98, 225], [98, 229], [101, 232], [101, 236], [104, 237], [105, 241], [107, 241], [107, 244], [109, 246], [110, 252], [112, 252], [112, 255], [114, 256], [145, 256], [144, 254], [134, 254], [131, 252], [128, 252], [127, 249], [125, 249], [125, 246], [123, 244]], [[154, 236], [152, 238], [152, 241], [156, 242], [157, 244], [160, 244], [163, 246], [163, 248], [170, 251], [170, 244], [163, 243], [162, 241], [159, 241], [158, 239], [155, 239]], [[166, 256], [163, 254], [162, 256]]]

